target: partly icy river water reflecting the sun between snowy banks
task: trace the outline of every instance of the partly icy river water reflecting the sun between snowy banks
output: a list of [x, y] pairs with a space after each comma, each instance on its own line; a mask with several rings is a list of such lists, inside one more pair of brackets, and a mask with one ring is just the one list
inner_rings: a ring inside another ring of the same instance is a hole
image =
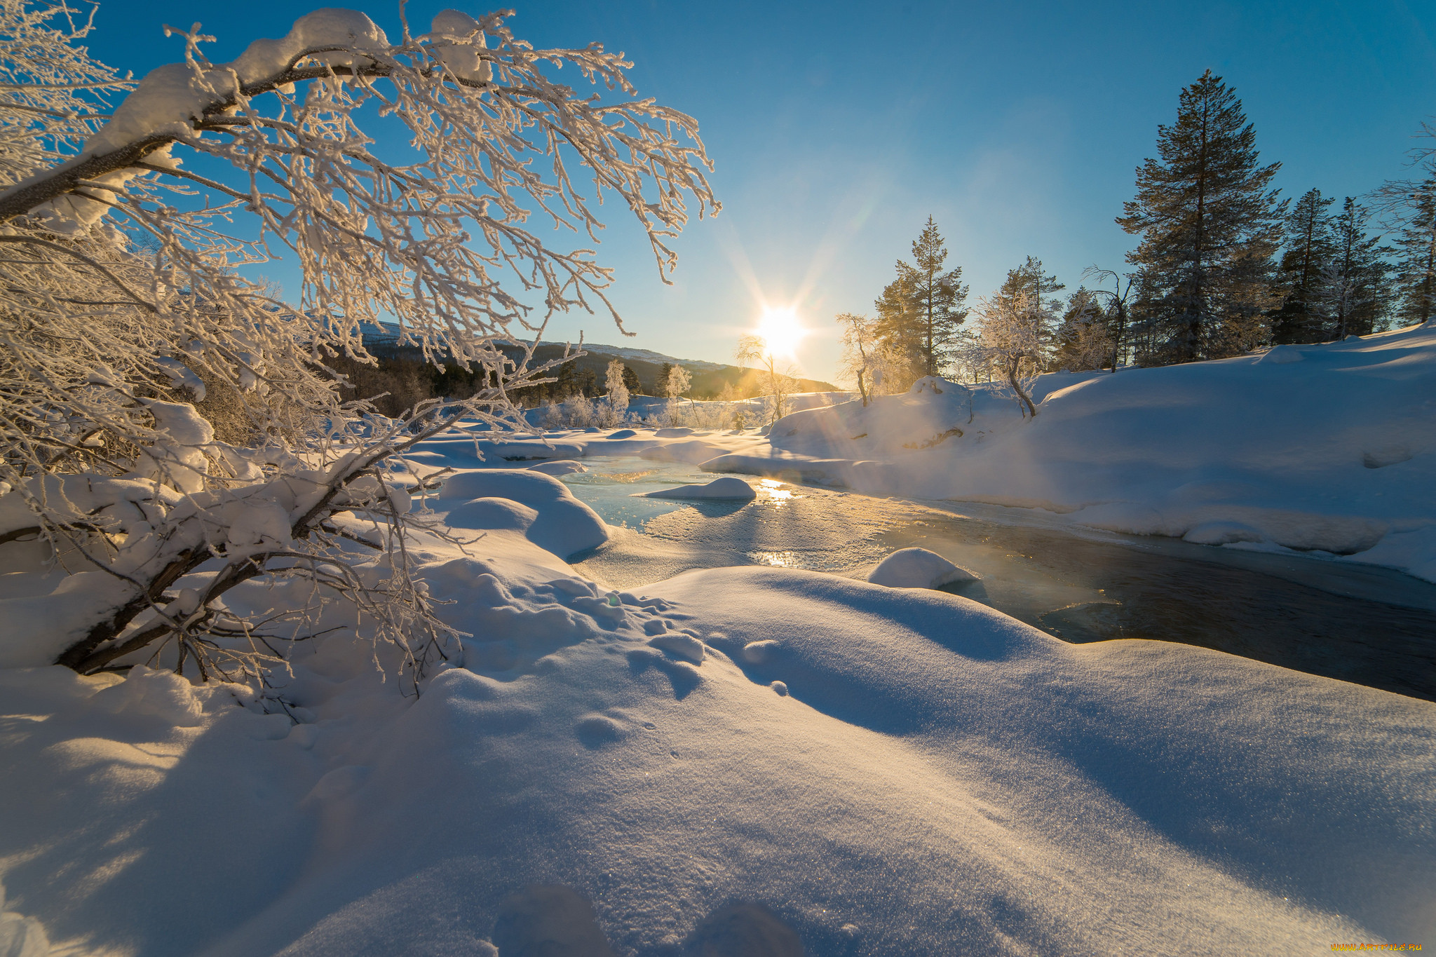
[[612, 587], [725, 565], [866, 577], [887, 552], [920, 545], [982, 577], [954, 594], [1066, 641], [1180, 641], [1436, 700], [1436, 585], [1396, 571], [773, 479], [750, 479], [752, 502], [632, 498], [714, 476], [639, 458], [586, 463], [563, 481], [620, 528], [573, 564]]

